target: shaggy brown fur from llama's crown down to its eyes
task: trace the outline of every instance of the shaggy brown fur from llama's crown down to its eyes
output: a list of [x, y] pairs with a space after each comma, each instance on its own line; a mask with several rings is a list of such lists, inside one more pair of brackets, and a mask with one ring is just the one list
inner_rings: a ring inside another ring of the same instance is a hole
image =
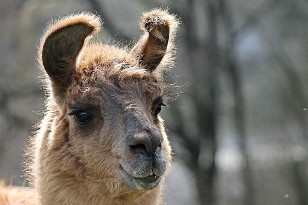
[[150, 109], [153, 100], [164, 90], [163, 81], [140, 66], [125, 49], [90, 44], [82, 53], [85, 55], [78, 59], [74, 83], [69, 89], [69, 103], [72, 100], [79, 105], [96, 102], [99, 107], [104, 105], [104, 99], [117, 98], [126, 106], [139, 101], [143, 104], [139, 106]]

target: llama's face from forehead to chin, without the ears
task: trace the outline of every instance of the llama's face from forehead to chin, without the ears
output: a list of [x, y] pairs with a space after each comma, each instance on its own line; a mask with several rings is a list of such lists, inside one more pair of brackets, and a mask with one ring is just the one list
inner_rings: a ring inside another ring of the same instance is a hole
[[[86, 61], [89, 68], [91, 63]], [[164, 86], [147, 71], [131, 76], [133, 70], [140, 72], [142, 68], [125, 65], [123, 72], [129, 72], [124, 79], [106, 78], [108, 70], [120, 65], [98, 66], [95, 60], [95, 74], [87, 76], [92, 81], [86, 83], [85, 69], [80, 68], [82, 77], [76, 78], [70, 88], [74, 94], [65, 102], [69, 141], [80, 148], [75, 155], [89, 163], [88, 169], [95, 176], [123, 179], [129, 189], [149, 190], [159, 184], [170, 160], [170, 146], [159, 115]]]

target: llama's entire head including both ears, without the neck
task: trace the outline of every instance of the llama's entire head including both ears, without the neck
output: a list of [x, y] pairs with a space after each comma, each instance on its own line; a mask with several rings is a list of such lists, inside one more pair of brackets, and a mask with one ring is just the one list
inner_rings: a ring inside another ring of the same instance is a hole
[[64, 152], [59, 163], [65, 166], [54, 172], [103, 182], [111, 193], [151, 190], [171, 161], [159, 113], [177, 20], [166, 11], [145, 13], [144, 35], [130, 50], [86, 45], [99, 25], [92, 15], [69, 16], [41, 42], [39, 63], [54, 113], [47, 146]]

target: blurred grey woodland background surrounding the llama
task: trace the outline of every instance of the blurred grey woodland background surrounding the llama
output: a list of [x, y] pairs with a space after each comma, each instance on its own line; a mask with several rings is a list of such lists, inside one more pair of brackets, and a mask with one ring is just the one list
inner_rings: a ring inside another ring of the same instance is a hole
[[126, 45], [156, 7], [182, 22], [168, 74], [182, 94], [162, 112], [174, 148], [167, 204], [308, 204], [306, 0], [0, 0], [0, 178], [24, 181], [44, 110], [36, 46], [51, 17], [96, 12], [98, 38]]

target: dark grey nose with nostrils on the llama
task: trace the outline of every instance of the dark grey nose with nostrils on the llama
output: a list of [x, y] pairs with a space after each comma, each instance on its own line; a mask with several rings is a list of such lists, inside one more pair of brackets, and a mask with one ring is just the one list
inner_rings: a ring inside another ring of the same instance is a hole
[[151, 129], [135, 133], [130, 138], [129, 145], [135, 152], [153, 154], [158, 147], [161, 147], [163, 140], [163, 136], [157, 129]]

